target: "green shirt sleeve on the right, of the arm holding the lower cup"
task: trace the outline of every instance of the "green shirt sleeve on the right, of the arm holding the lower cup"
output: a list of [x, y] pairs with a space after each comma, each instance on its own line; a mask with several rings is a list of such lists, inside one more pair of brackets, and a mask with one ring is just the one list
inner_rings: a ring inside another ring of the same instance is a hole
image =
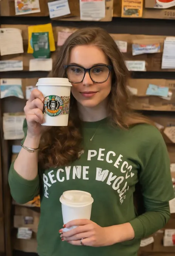
[[158, 143], [150, 153], [147, 163], [145, 161], [143, 163], [139, 182], [145, 213], [130, 221], [135, 232], [135, 239], [142, 239], [163, 228], [171, 216], [169, 200], [175, 197], [175, 193], [168, 151], [161, 134], [158, 136]]

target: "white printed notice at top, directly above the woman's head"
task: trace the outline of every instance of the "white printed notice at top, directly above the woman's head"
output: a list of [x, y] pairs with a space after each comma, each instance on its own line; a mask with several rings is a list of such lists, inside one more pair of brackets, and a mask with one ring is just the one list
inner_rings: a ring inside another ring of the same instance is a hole
[[80, 20], [99, 21], [105, 14], [105, 0], [80, 0]]

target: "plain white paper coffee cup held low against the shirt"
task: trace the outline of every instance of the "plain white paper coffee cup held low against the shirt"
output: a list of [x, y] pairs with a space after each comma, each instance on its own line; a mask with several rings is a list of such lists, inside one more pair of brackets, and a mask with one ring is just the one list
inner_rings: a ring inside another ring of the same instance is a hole
[[[90, 219], [93, 198], [91, 194], [81, 190], [65, 191], [59, 198], [62, 207], [63, 223], [73, 219]], [[75, 228], [72, 226], [70, 229]], [[64, 231], [70, 229], [65, 228]]]

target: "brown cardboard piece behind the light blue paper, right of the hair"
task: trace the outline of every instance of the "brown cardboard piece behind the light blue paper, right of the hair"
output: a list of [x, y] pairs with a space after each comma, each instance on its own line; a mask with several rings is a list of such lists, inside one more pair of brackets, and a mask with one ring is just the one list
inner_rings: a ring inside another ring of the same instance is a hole
[[[148, 96], [146, 91], [149, 83], [167, 86], [172, 91], [171, 100], [158, 96]], [[165, 79], [129, 79], [128, 85], [137, 89], [137, 95], [132, 97], [131, 107], [136, 110], [175, 111], [175, 80]]]

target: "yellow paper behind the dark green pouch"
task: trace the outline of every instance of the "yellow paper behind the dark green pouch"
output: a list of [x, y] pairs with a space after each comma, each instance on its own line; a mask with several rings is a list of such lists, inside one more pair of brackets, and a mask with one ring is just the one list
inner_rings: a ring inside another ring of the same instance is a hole
[[54, 34], [52, 30], [52, 24], [44, 24], [44, 25], [34, 25], [28, 27], [28, 50], [27, 53], [33, 53], [33, 47], [32, 47], [32, 33], [38, 33], [38, 32], [48, 32], [49, 33], [49, 46], [50, 51], [55, 51], [55, 40], [54, 40]]

